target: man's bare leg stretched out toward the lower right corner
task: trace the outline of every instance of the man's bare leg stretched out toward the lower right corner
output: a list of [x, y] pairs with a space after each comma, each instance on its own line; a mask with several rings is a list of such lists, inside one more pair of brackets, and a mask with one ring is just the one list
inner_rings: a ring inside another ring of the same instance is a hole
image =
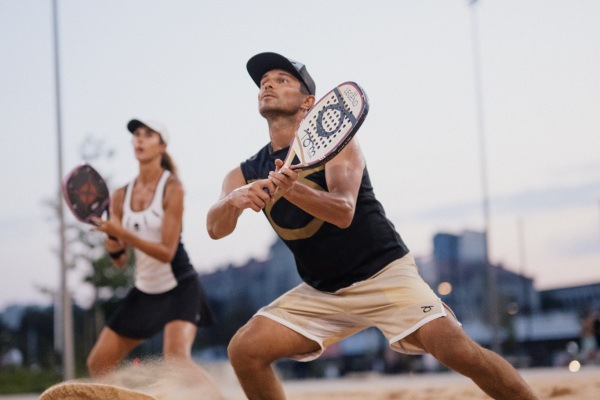
[[494, 399], [538, 398], [506, 360], [471, 340], [453, 318], [437, 318], [407, 340], [420, 344], [446, 367], [471, 378]]

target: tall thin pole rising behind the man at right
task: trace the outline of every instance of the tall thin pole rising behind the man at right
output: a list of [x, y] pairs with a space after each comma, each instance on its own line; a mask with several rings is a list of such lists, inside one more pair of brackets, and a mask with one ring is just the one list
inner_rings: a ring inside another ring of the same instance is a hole
[[483, 208], [483, 230], [484, 230], [484, 258], [486, 265], [486, 274], [488, 281], [488, 301], [490, 318], [490, 347], [496, 353], [501, 352], [500, 343], [500, 315], [498, 310], [498, 289], [496, 268], [490, 262], [490, 201], [489, 188], [487, 180], [487, 160], [485, 145], [485, 119], [483, 110], [483, 85], [481, 79], [481, 63], [479, 54], [479, 37], [477, 29], [477, 0], [469, 0], [471, 8], [471, 32], [473, 42], [473, 71], [475, 76], [475, 100], [477, 105], [477, 133], [479, 136], [479, 153], [481, 164], [481, 187], [482, 187], [482, 208]]

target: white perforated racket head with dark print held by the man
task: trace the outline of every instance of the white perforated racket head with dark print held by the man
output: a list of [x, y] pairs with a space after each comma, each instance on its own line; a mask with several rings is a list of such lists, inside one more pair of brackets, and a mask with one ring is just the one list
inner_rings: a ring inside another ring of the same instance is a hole
[[369, 111], [366, 93], [354, 82], [345, 82], [327, 93], [306, 114], [292, 148], [300, 164], [308, 169], [335, 157], [358, 131]]

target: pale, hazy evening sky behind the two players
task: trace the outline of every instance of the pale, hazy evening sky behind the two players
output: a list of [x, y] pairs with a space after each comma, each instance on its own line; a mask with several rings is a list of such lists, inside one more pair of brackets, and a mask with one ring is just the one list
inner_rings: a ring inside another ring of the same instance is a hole
[[[245, 65], [273, 51], [306, 64], [317, 98], [346, 81], [367, 92], [356, 139], [414, 255], [430, 256], [438, 232], [481, 231], [487, 197], [492, 262], [540, 290], [600, 282], [600, 2], [57, 3], [63, 175], [94, 138], [114, 149], [96, 168], [125, 185], [137, 173], [127, 122], [165, 123], [201, 273], [262, 259], [275, 240], [251, 210], [226, 238], [206, 232], [225, 174], [268, 141]], [[53, 51], [50, 0], [0, 0], [0, 310], [49, 304], [40, 288], [59, 287], [44, 205], [61, 179]], [[69, 287], [86, 305], [80, 274]]]

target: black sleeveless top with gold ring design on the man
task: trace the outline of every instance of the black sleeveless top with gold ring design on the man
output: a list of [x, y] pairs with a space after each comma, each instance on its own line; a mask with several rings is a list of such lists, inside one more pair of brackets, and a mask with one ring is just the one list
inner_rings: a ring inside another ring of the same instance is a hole
[[[269, 148], [265, 146], [241, 164], [246, 183], [266, 179], [275, 169], [275, 160], [285, 159], [288, 152], [285, 148], [270, 153]], [[316, 190], [327, 190], [323, 166], [301, 171], [298, 181]], [[313, 217], [278, 194], [263, 212], [294, 254], [302, 280], [321, 291], [335, 292], [365, 280], [408, 253], [375, 198], [366, 168], [354, 219], [346, 229]]]

